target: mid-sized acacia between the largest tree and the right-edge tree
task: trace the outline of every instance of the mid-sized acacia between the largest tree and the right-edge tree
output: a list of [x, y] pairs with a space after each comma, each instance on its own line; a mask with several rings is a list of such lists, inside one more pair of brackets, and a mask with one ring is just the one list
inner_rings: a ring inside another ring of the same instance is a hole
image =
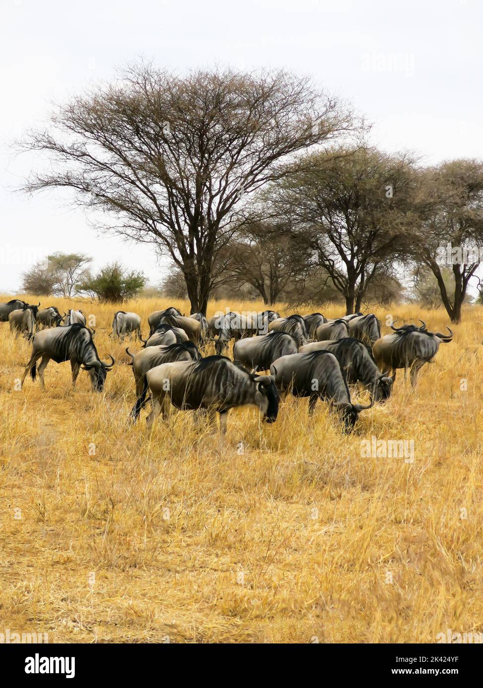
[[272, 213], [290, 219], [300, 246], [311, 248], [347, 314], [407, 255], [413, 162], [367, 147], [313, 153], [264, 193]]

